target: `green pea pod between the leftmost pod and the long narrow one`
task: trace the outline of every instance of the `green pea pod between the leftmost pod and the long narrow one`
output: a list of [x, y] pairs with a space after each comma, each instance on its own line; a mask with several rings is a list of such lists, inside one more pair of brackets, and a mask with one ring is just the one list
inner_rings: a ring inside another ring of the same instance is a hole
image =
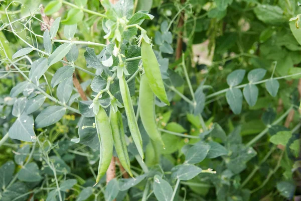
[[128, 174], [132, 177], [133, 174], [130, 171], [130, 161], [127, 153], [122, 116], [119, 110], [116, 113], [113, 112], [113, 109], [110, 110], [110, 123], [112, 127], [113, 140], [115, 150], [117, 152], [119, 161]]

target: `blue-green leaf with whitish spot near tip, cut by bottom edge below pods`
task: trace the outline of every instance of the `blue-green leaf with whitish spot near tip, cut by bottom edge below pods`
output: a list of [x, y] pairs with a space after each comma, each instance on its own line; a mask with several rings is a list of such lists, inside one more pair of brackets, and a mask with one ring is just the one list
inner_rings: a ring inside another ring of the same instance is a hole
[[173, 195], [173, 188], [163, 178], [161, 178], [158, 174], [154, 176], [154, 184], [153, 189], [156, 198], [159, 201], [170, 201]]

